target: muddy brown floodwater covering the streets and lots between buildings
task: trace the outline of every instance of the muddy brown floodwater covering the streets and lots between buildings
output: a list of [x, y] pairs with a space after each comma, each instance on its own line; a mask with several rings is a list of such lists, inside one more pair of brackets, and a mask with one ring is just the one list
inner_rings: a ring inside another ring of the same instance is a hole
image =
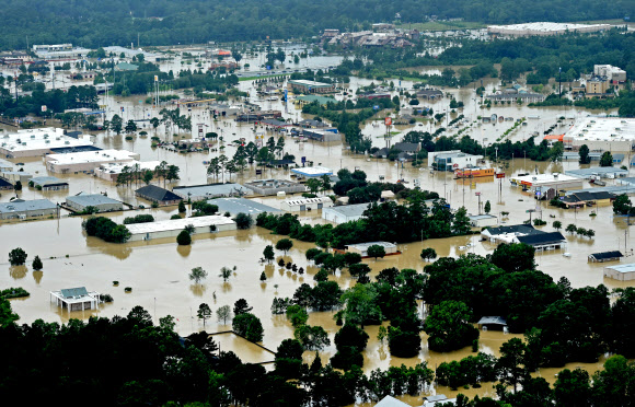
[[[350, 88], [356, 89], [359, 84], [367, 84], [366, 80], [351, 81]], [[369, 81], [370, 82], [370, 81]], [[409, 84], [402, 83], [402, 86]], [[242, 89], [249, 89], [251, 82], [241, 82]], [[465, 103], [465, 116], [481, 114], [476, 105], [475, 97], [472, 96], [473, 90], [461, 89], [450, 90], [457, 97]], [[254, 93], [255, 96], [255, 93]], [[125, 114], [129, 117], [125, 119], [139, 117], [137, 115], [148, 114], [150, 106], [139, 105], [139, 97], [127, 100], [108, 101], [111, 107], [117, 106], [138, 106], [126, 108]], [[432, 107], [436, 112], [442, 112], [449, 108], [449, 100], [443, 98], [435, 102]], [[142, 109], [146, 109], [143, 112]], [[292, 104], [286, 108], [281, 102], [264, 102], [263, 108], [282, 109], [285, 118], [304, 117]], [[535, 121], [529, 121], [520, 130], [512, 132], [512, 140], [522, 140], [533, 131], [541, 131], [543, 126], [551, 126], [559, 116], [570, 118], [572, 123], [582, 114], [574, 109], [563, 111], [562, 108], [529, 108], [527, 106], [493, 106], [487, 111], [488, 114], [497, 113], [503, 116], [515, 118], [540, 115], [541, 118]], [[157, 115], [157, 112], [150, 112]], [[197, 131], [197, 124], [207, 125], [204, 131], [217, 131], [223, 135], [226, 139], [224, 154], [233, 155], [234, 148], [229, 144], [231, 140], [244, 137], [247, 141], [254, 140], [254, 126], [246, 124], [236, 124], [231, 119], [213, 121], [207, 112], [203, 108], [193, 108], [193, 131], [187, 135], [190, 138]], [[452, 116], [450, 116], [451, 119]], [[429, 126], [429, 125], [427, 125]], [[474, 125], [473, 130], [466, 132], [475, 138], [481, 137], [493, 142], [501, 133], [506, 126], [501, 125]], [[527, 128], [526, 128], [527, 127]], [[404, 132], [409, 129], [426, 129], [419, 126], [405, 126], [399, 128]], [[434, 129], [434, 127], [432, 127]], [[164, 149], [152, 149], [150, 147], [150, 136], [154, 130], [147, 129], [149, 136], [141, 138], [135, 136], [134, 140], [127, 141], [124, 136], [97, 135], [97, 146], [103, 148], [128, 149], [141, 154], [142, 161], [165, 160], [169, 163], [178, 165], [182, 168], [182, 181], [180, 185], [204, 184], [207, 182], [204, 160], [209, 160], [218, 153], [189, 153], [182, 154], [171, 152]], [[372, 127], [368, 124], [363, 128], [365, 135], [373, 137], [376, 146], [383, 146], [383, 135], [385, 129]], [[170, 131], [169, 133], [172, 133]], [[158, 135], [162, 138], [172, 139], [173, 136], [165, 136], [165, 129], [160, 127]], [[269, 132], [268, 136], [278, 137], [278, 133]], [[399, 141], [399, 136], [393, 138]], [[564, 225], [576, 223], [578, 226], [593, 229], [596, 237], [577, 237], [567, 235], [567, 247], [562, 251], [552, 251], [539, 253], [536, 263], [539, 269], [547, 272], [555, 280], [561, 277], [567, 277], [573, 287], [607, 284], [610, 289], [617, 287], [633, 286], [634, 283], [622, 283], [614, 280], [604, 279], [602, 276], [603, 265], [587, 263], [587, 256], [593, 252], [609, 249], [622, 249], [631, 253], [635, 244], [625, 220], [613, 218], [611, 207], [599, 207], [592, 209], [582, 209], [578, 211], [553, 209], [546, 203], [536, 203], [531, 196], [523, 194], [518, 188], [509, 186], [507, 179], [503, 181], [480, 181], [473, 187], [465, 183], [452, 178], [450, 173], [431, 173], [427, 168], [415, 168], [409, 164], [388, 162], [385, 160], [369, 159], [363, 155], [351, 155], [342, 143], [318, 143], [305, 142], [297, 143], [290, 137], [286, 138], [285, 151], [295, 154], [299, 161], [300, 156], [307, 156], [315, 164], [321, 164], [333, 168], [340, 167], [360, 168], [368, 174], [369, 181], [378, 181], [379, 176], [384, 176], [386, 182], [396, 182], [406, 179], [408, 186], [412, 186], [414, 179], [420, 181], [423, 189], [438, 191], [446, 197], [452, 208], [465, 206], [470, 213], [478, 212], [478, 197], [475, 193], [481, 193], [481, 202], [486, 200], [492, 202], [492, 213], [499, 216], [501, 211], [510, 212], [509, 218], [505, 219], [506, 224], [516, 224], [527, 219], [526, 211], [529, 209], [539, 209], [534, 217], [542, 217], [549, 222], [542, 226], [546, 231], [552, 231], [551, 222], [559, 220]], [[20, 159], [13, 162], [24, 162], [26, 172], [45, 175], [46, 168], [42, 158]], [[534, 163], [522, 158], [517, 158], [508, 163], [508, 174], [520, 172], [563, 172], [578, 167], [576, 162], [565, 163]], [[236, 182], [250, 181], [255, 177], [254, 167], [250, 166], [244, 174], [234, 174], [231, 179]], [[68, 179], [71, 184], [70, 190], [58, 193], [42, 193], [33, 188], [25, 187], [20, 196], [25, 199], [35, 199], [47, 197], [54, 201], [62, 201], [67, 195], [77, 194], [81, 190], [86, 191], [106, 191], [108, 196], [122, 199], [134, 205], [149, 202], [138, 201], [134, 197], [135, 187], [116, 187], [108, 183], [90, 175], [60, 175], [50, 174]], [[268, 170], [266, 176], [277, 178], [289, 178], [290, 172], [285, 170]], [[229, 174], [226, 175], [226, 181]], [[611, 185], [612, 182], [609, 182]], [[0, 198], [2, 201], [9, 199], [10, 194], [3, 193]], [[275, 197], [262, 198], [262, 201], [279, 206], [280, 199]], [[596, 217], [590, 217], [591, 212], [597, 212]], [[152, 213], [157, 219], [169, 219], [176, 213], [175, 207], [147, 209], [146, 212]], [[125, 216], [130, 213], [109, 214], [114, 220], [120, 222]], [[318, 217], [319, 212], [302, 213], [301, 218], [310, 222], [322, 222]], [[177, 318], [176, 329], [181, 335], [188, 335], [204, 328], [203, 323], [196, 318], [196, 310], [200, 303], [208, 303], [213, 312], [222, 305], [233, 306], [233, 303], [241, 298], [247, 300], [250, 305], [254, 306], [254, 314], [257, 315], [265, 330], [265, 337], [262, 345], [268, 349], [275, 350], [278, 345], [286, 338], [292, 337], [292, 327], [284, 315], [272, 315], [270, 304], [275, 296], [292, 296], [296, 289], [302, 283], [313, 283], [313, 276], [318, 268], [307, 261], [304, 253], [312, 247], [311, 244], [295, 241], [293, 248], [284, 256], [286, 261], [292, 261], [299, 267], [303, 267], [304, 275], [293, 274], [281, 269], [277, 264], [266, 265], [258, 263], [262, 257], [264, 247], [268, 244], [275, 244], [279, 236], [272, 235], [268, 231], [261, 228], [253, 228], [249, 231], [222, 232], [215, 234], [199, 234], [194, 236], [192, 246], [178, 247], [173, 239], [153, 240], [150, 242], [134, 242], [128, 244], [109, 244], [95, 237], [86, 237], [81, 231], [81, 219], [62, 217], [55, 220], [26, 221], [0, 223], [0, 253], [7, 254], [11, 248], [21, 246], [28, 253], [30, 259], [27, 266], [12, 267], [8, 263], [0, 264], [0, 287], [22, 287], [31, 292], [27, 299], [11, 300], [14, 311], [21, 316], [20, 322], [32, 323], [42, 318], [47, 322], [66, 323], [69, 318], [88, 318], [91, 315], [112, 317], [114, 315], [125, 315], [135, 305], [141, 305], [150, 312], [154, 321], [164, 315], [173, 315]], [[464, 248], [467, 244], [472, 245]], [[477, 236], [462, 236], [443, 240], [428, 240], [425, 242], [413, 242], [400, 245], [403, 254], [390, 256], [385, 259], [365, 260], [372, 268], [371, 277], [376, 276], [383, 268], [397, 267], [414, 268], [422, 271], [424, 263], [419, 253], [424, 247], [434, 247], [439, 256], [459, 256], [467, 252], [486, 255], [492, 253], [494, 247], [487, 243], [478, 242]], [[563, 253], [570, 253], [570, 257], [564, 257]], [[33, 271], [30, 267], [31, 260], [35, 255], [39, 255], [44, 261], [43, 271]], [[5, 255], [1, 255], [5, 256]], [[68, 256], [68, 257], [67, 257]], [[277, 253], [277, 259], [282, 257]], [[276, 261], [277, 261], [276, 259]], [[5, 261], [5, 257], [2, 257]], [[631, 256], [626, 257], [624, 263], [631, 263]], [[187, 275], [194, 267], [203, 267], [209, 272], [209, 276], [201, 284], [193, 284]], [[218, 274], [220, 268], [236, 267], [233, 276], [227, 282], [223, 282]], [[267, 280], [259, 281], [261, 272], [265, 271]], [[355, 281], [350, 279], [346, 271], [332, 276], [331, 279], [337, 281], [342, 288], [351, 287]], [[115, 287], [113, 281], [119, 281]], [[89, 291], [95, 290], [101, 293], [109, 293], [114, 302], [102, 304], [99, 310], [84, 312], [66, 312], [50, 303], [49, 292], [62, 288], [85, 286]], [[132, 291], [125, 293], [124, 288], [130, 287]], [[423, 312], [423, 310], [422, 310]], [[337, 332], [337, 326], [333, 321], [334, 312], [312, 312], [309, 324], [321, 325], [326, 329], [333, 341]], [[216, 315], [207, 322], [205, 329], [207, 332], [227, 330], [228, 326], [218, 322]], [[459, 360], [471, 354], [471, 349], [466, 348], [455, 352], [437, 353], [427, 349], [425, 333], [422, 333], [423, 349], [418, 357], [411, 359], [400, 359], [390, 356], [386, 345], [377, 340], [379, 327], [366, 327], [370, 335], [368, 348], [366, 349], [363, 370], [368, 373], [373, 369], [386, 369], [391, 365], [414, 365], [419, 362], [427, 362], [428, 367], [435, 369], [443, 361]], [[503, 333], [487, 332], [481, 334], [480, 350], [493, 354], [498, 354], [500, 345], [513, 337]], [[234, 350], [245, 361], [262, 361], [263, 351], [261, 348], [249, 345], [245, 346], [239, 340], [232, 338], [219, 338], [222, 349]], [[335, 346], [332, 345], [323, 351], [321, 357], [323, 362], [335, 353]], [[304, 358], [311, 361], [314, 352], [305, 352]], [[569, 368], [582, 367], [589, 371], [596, 371], [600, 363], [573, 363]], [[559, 369], [543, 369], [538, 374], [544, 376], [547, 381], [555, 380], [554, 374]], [[449, 388], [438, 387], [436, 392], [453, 396], [459, 392], [452, 392]], [[461, 389], [469, 396], [493, 395], [494, 391], [488, 384], [477, 389]], [[403, 397], [403, 400], [411, 405], [420, 405], [420, 398]]]

